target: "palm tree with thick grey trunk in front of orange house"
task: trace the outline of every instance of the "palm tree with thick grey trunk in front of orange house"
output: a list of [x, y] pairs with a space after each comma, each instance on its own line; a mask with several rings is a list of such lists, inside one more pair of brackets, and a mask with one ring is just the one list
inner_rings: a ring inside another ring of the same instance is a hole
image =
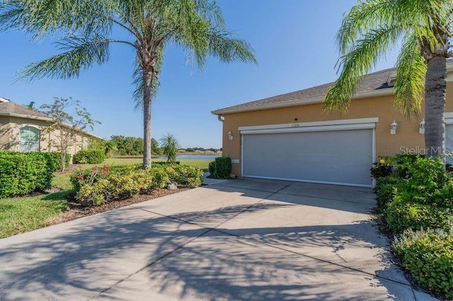
[[402, 41], [395, 103], [406, 117], [418, 116], [424, 96], [426, 156], [444, 158], [452, 13], [451, 0], [367, 0], [352, 7], [338, 31], [340, 76], [326, 93], [324, 110], [345, 112], [360, 78]]

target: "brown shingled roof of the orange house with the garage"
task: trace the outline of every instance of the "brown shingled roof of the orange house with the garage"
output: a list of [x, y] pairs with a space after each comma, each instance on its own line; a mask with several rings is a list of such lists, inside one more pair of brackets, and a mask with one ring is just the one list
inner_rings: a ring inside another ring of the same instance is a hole
[[[391, 93], [393, 93], [393, 88], [389, 85], [389, 78], [391, 78], [392, 73], [396, 73], [395, 68], [369, 73], [367, 76], [364, 76], [355, 98], [372, 97], [373, 95], [391, 95]], [[232, 107], [224, 107], [223, 109], [212, 111], [212, 114], [219, 115], [319, 103], [322, 102], [328, 87], [332, 84], [333, 83], [326, 83], [324, 85], [317, 85], [316, 87], [264, 98], [262, 100], [246, 102]]]

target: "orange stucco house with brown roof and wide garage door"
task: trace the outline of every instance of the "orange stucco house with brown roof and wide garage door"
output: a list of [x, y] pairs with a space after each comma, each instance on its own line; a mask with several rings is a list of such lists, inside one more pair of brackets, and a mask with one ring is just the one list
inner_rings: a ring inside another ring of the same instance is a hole
[[[452, 151], [451, 62], [447, 71], [445, 124]], [[380, 156], [424, 152], [424, 112], [411, 119], [398, 112], [395, 77], [396, 69], [365, 76], [347, 114], [322, 112], [331, 83], [215, 110], [223, 122], [223, 154], [242, 177], [371, 187], [369, 168]]]

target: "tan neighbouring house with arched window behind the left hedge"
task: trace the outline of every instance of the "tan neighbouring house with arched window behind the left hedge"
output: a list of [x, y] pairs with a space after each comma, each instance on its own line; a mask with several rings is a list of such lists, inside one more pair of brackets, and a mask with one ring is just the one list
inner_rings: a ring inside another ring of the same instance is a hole
[[[0, 98], [0, 150], [28, 152], [59, 151], [57, 132], [45, 131], [52, 119], [5, 98]], [[70, 131], [68, 126], [68, 131]], [[79, 131], [68, 153], [75, 155], [88, 147], [90, 139], [101, 139], [86, 131]]]

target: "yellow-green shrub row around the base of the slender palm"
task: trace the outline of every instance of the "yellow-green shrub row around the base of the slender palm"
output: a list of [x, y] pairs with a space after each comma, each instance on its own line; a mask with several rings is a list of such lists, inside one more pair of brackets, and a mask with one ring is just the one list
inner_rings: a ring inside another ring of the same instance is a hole
[[171, 182], [198, 187], [203, 171], [187, 165], [156, 165], [142, 170], [138, 165], [93, 167], [71, 174], [76, 200], [84, 206], [99, 206], [113, 199], [124, 199]]

